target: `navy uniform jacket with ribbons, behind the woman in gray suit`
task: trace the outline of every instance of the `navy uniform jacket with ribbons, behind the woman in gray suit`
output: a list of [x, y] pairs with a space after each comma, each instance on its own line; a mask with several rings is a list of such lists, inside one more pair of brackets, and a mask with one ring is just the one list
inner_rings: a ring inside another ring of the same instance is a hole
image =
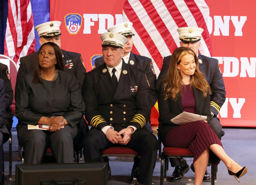
[[[84, 73], [86, 73], [86, 69], [83, 65], [81, 54], [65, 51], [65, 50], [61, 50], [61, 51], [63, 54], [64, 70], [75, 75], [79, 84], [79, 88], [81, 89], [83, 84]], [[39, 51], [20, 58], [20, 65], [17, 73], [15, 91], [17, 90], [18, 84], [22, 79], [22, 76], [36, 69], [38, 52]], [[68, 63], [72, 68], [66, 67], [66, 64]]]

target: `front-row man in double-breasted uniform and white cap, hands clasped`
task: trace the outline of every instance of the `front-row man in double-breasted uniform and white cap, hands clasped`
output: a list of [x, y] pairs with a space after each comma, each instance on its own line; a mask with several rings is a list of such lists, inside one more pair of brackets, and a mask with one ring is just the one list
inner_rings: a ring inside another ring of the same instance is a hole
[[158, 141], [144, 125], [150, 118], [150, 85], [144, 71], [121, 56], [127, 39], [101, 35], [104, 63], [84, 77], [85, 117], [92, 128], [83, 143], [85, 162], [100, 162], [100, 151], [125, 146], [141, 154], [139, 182], [152, 184]]

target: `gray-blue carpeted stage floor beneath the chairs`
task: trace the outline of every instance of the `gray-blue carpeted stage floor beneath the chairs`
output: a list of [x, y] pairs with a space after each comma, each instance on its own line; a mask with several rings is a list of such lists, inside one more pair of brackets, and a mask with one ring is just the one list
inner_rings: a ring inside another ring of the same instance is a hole
[[[220, 162], [218, 165], [217, 182], [216, 184], [221, 185], [254, 185], [256, 184], [256, 129], [247, 128], [223, 128], [225, 135], [222, 137], [222, 144], [226, 153], [241, 166], [247, 166], [248, 172], [246, 175], [240, 178], [240, 183], [233, 177], [228, 175], [228, 170], [224, 163]], [[18, 160], [18, 141], [17, 132], [13, 132], [13, 180], [5, 180], [5, 185], [15, 184], [15, 165], [21, 164]], [[4, 144], [5, 153], [5, 178], [9, 176], [9, 145], [8, 142]], [[190, 165], [193, 161], [192, 158], [186, 159]], [[83, 162], [83, 160], [80, 160]], [[112, 169], [112, 179], [108, 181], [108, 185], [129, 185], [131, 184], [130, 175], [133, 165], [133, 157], [110, 157], [110, 166]], [[153, 183], [160, 184], [160, 160], [156, 160], [156, 166], [153, 174]], [[167, 176], [169, 177], [173, 172], [172, 167], [170, 167]], [[208, 167], [210, 173], [210, 167]], [[185, 174], [184, 178], [179, 182], [169, 182], [168, 178], [164, 184], [175, 184], [175, 185], [185, 185], [188, 179], [192, 179], [194, 182], [195, 174], [189, 170]], [[210, 185], [210, 182], [203, 182], [202, 184]]]

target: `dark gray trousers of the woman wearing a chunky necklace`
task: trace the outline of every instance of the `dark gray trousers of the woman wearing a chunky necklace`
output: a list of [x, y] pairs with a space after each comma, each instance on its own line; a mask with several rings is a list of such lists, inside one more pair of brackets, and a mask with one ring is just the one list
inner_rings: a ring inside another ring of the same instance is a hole
[[28, 130], [27, 125], [24, 125], [17, 132], [18, 140], [24, 147], [25, 164], [40, 164], [48, 147], [51, 147], [56, 163], [73, 163], [73, 138], [76, 135], [76, 125], [73, 128], [65, 125], [56, 132]]

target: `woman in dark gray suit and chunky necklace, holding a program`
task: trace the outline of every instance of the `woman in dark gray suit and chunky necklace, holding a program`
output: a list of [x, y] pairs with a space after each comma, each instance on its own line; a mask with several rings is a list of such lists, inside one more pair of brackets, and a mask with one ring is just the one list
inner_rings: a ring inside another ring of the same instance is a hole
[[[57, 163], [73, 162], [73, 138], [84, 112], [75, 76], [63, 71], [62, 52], [52, 42], [38, 52], [35, 72], [22, 77], [16, 92], [17, 135], [24, 147], [25, 164], [42, 163], [51, 147]], [[47, 130], [28, 130], [27, 125], [48, 125]]]

